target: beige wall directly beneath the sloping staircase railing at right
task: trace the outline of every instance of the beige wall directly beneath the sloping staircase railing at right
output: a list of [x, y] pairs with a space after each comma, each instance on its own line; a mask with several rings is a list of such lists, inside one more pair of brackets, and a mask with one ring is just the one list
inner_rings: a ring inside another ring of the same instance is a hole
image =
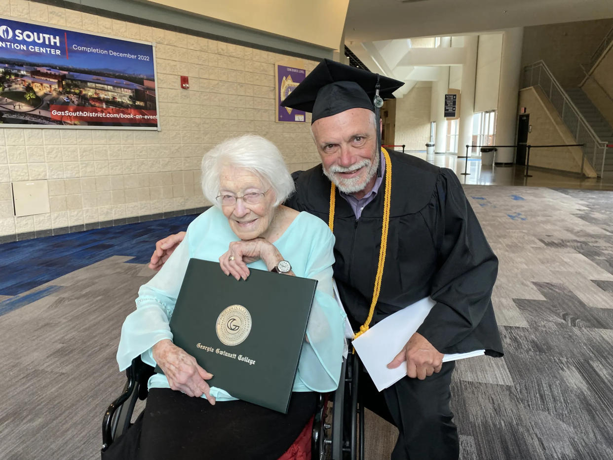
[[[563, 145], [576, 144], [573, 134], [555, 110], [541, 88], [531, 86], [519, 91], [519, 107], [526, 107], [530, 115], [532, 131], [528, 133], [528, 144]], [[530, 166], [580, 172], [582, 152], [579, 147], [533, 148], [530, 150]], [[596, 177], [596, 172], [585, 161], [584, 174]]]

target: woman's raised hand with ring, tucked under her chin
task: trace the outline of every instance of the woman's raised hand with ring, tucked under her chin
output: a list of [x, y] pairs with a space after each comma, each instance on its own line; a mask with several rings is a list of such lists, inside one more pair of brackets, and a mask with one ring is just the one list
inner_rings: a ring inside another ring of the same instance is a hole
[[230, 243], [230, 248], [219, 258], [221, 270], [226, 275], [232, 275], [237, 280], [246, 280], [249, 276], [247, 264], [262, 259], [268, 270], [272, 270], [283, 256], [272, 243], [264, 238], [240, 240]]

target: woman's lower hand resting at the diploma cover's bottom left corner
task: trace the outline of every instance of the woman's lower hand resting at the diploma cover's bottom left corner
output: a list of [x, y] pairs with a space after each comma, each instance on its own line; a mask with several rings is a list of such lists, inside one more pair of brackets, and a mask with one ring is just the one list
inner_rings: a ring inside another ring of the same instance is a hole
[[202, 369], [194, 356], [188, 355], [183, 348], [172, 343], [172, 340], [160, 340], [153, 345], [153, 359], [164, 371], [170, 388], [183, 391], [191, 397], [204, 394], [208, 402], [215, 404], [215, 397], [210, 395], [210, 387], [205, 381], [213, 378], [213, 374]]

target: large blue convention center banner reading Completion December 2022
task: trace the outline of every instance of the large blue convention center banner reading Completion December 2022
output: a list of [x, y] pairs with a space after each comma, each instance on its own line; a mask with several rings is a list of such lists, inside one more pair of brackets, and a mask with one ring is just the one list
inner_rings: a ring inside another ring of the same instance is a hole
[[153, 44], [0, 18], [0, 126], [158, 129]]

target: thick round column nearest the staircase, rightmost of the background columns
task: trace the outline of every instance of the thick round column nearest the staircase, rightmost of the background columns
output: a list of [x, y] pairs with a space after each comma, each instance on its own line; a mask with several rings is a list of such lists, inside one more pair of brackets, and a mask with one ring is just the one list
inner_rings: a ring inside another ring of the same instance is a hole
[[[500, 59], [500, 89], [496, 121], [496, 144], [514, 145], [517, 134], [517, 101], [522, 65], [524, 28], [506, 29], [502, 39]], [[511, 164], [515, 159], [514, 148], [499, 148], [496, 164]]]

